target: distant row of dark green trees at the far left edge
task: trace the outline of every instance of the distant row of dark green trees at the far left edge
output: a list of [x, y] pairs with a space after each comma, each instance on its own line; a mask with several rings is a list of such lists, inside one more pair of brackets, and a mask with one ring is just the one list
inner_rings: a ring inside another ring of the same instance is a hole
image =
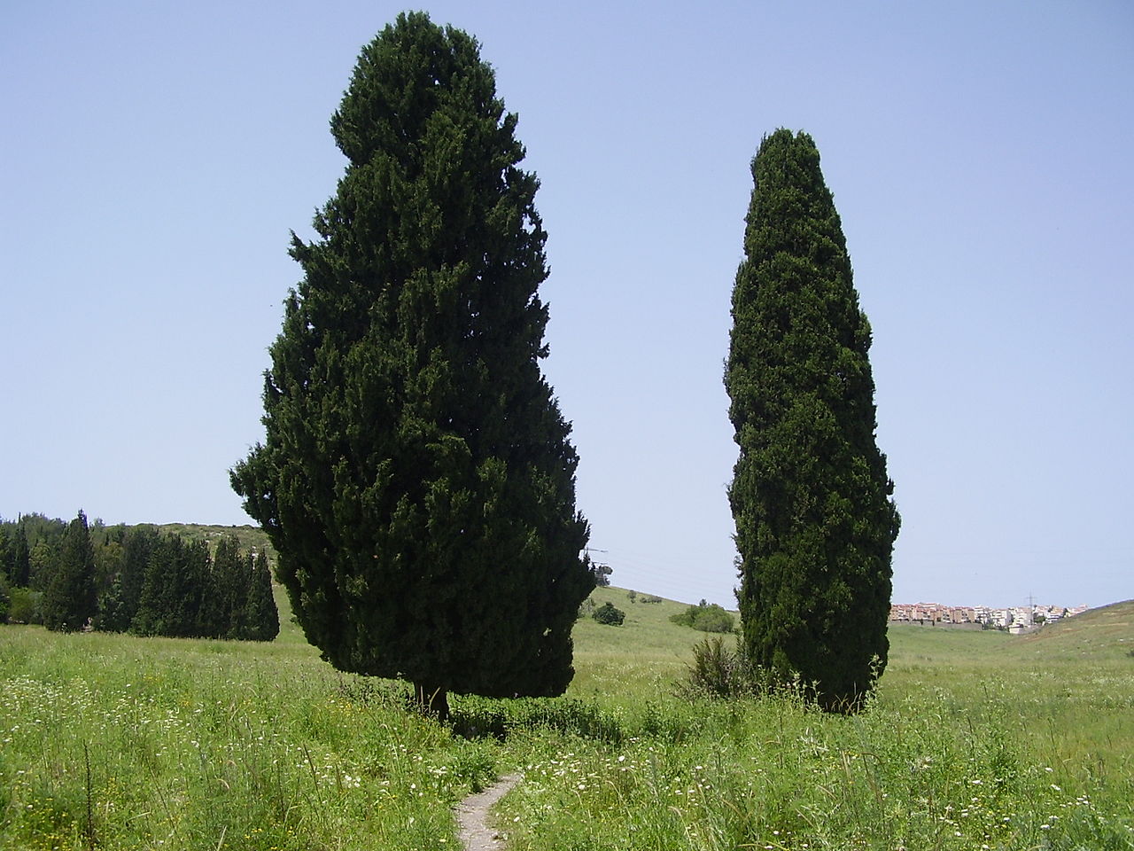
[[136, 635], [271, 641], [279, 633], [265, 553], [234, 534], [205, 541], [152, 525], [0, 522], [0, 623]]

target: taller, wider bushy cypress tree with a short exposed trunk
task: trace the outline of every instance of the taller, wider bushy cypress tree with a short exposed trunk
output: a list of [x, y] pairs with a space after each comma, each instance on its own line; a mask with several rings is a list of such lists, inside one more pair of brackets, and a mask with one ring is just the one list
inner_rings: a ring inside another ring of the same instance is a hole
[[346, 154], [232, 471], [308, 640], [341, 669], [558, 694], [594, 584], [576, 454], [539, 361], [538, 180], [476, 41], [424, 14], [365, 47]]

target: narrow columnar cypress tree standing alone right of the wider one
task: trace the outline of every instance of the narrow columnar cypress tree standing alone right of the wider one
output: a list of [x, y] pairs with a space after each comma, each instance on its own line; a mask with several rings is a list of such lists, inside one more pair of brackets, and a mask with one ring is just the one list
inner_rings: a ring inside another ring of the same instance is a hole
[[811, 136], [765, 137], [752, 172], [725, 377], [744, 648], [773, 680], [853, 710], [886, 666], [898, 532], [870, 325]]

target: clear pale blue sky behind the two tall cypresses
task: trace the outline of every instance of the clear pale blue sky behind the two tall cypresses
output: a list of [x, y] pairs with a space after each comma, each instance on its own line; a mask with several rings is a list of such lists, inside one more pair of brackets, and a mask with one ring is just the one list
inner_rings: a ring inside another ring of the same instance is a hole
[[[249, 522], [227, 470], [406, 7], [10, 0], [0, 515]], [[414, 8], [414, 7], [409, 7]], [[895, 600], [1134, 597], [1134, 6], [438, 2], [542, 180], [545, 361], [616, 584], [733, 605], [750, 160], [812, 134], [874, 329]]]

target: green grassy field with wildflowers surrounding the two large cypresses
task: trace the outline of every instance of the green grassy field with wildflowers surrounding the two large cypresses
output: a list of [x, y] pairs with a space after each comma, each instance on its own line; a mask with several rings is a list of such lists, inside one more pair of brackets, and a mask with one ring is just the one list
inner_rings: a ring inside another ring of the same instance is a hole
[[1034, 635], [891, 629], [873, 705], [676, 697], [679, 604], [599, 589], [558, 700], [454, 701], [271, 644], [0, 627], [0, 849], [457, 848], [498, 774], [510, 848], [1132, 849], [1134, 604]]

